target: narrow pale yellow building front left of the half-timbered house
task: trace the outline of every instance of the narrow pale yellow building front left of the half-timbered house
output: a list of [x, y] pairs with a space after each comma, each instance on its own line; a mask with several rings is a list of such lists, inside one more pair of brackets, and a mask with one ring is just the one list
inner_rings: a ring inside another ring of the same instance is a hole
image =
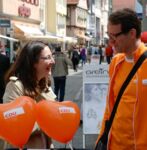
[[46, 0], [46, 32], [66, 36], [66, 0]]

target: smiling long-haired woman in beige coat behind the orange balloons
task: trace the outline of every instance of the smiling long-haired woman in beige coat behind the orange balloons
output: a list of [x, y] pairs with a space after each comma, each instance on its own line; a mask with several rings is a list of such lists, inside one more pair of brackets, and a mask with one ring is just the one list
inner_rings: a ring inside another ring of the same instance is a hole
[[[42, 41], [28, 42], [6, 76], [6, 90], [3, 96], [5, 103], [15, 100], [19, 96], [29, 96], [36, 102], [56, 98], [51, 89], [51, 67], [54, 59], [48, 44]], [[25, 125], [25, 122], [24, 122]], [[24, 146], [26, 148], [50, 148], [51, 139], [34, 126], [32, 134]], [[12, 147], [7, 144], [7, 148]], [[6, 148], [6, 147], [5, 147]]]

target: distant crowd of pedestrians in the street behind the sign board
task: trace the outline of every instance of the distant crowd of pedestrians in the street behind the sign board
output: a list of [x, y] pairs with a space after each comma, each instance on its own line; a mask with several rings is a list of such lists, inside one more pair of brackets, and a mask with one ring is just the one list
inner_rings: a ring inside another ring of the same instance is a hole
[[105, 45], [74, 45], [69, 56], [73, 63], [73, 69], [77, 71], [78, 64], [81, 63], [83, 66], [85, 63], [91, 63], [92, 56], [96, 55], [99, 57], [99, 64], [106, 62], [110, 64], [111, 59], [114, 55], [113, 47], [109, 44]]

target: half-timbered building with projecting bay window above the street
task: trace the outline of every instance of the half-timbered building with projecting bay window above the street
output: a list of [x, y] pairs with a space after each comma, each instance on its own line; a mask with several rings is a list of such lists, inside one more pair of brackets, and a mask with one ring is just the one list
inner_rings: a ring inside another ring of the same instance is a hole
[[87, 0], [67, 0], [67, 36], [78, 38], [79, 44], [89, 40], [85, 35], [87, 11]]

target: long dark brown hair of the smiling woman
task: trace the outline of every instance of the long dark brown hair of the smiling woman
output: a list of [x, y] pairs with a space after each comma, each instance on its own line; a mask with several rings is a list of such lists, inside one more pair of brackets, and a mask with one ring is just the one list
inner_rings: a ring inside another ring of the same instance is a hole
[[51, 82], [45, 78], [37, 82], [37, 72], [34, 67], [39, 61], [41, 51], [48, 44], [42, 41], [30, 41], [21, 50], [20, 54], [16, 58], [16, 61], [11, 66], [10, 70], [6, 75], [6, 83], [9, 82], [11, 76], [16, 76], [24, 86], [25, 95], [35, 98], [40, 91], [45, 90], [47, 84]]

